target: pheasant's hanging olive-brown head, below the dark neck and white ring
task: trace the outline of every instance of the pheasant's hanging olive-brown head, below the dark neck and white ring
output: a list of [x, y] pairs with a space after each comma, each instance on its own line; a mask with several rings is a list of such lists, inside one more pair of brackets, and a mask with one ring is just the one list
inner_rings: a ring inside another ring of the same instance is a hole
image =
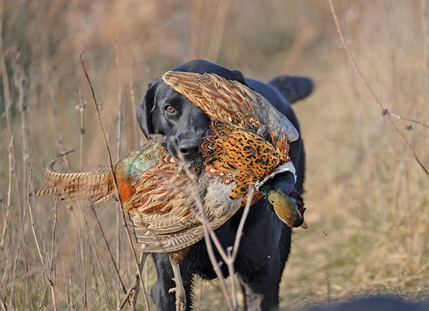
[[302, 227], [307, 229], [304, 219], [304, 203], [301, 197], [290, 197], [281, 190], [272, 190], [267, 195], [267, 199], [274, 207], [274, 212], [278, 218], [283, 220], [289, 227]]

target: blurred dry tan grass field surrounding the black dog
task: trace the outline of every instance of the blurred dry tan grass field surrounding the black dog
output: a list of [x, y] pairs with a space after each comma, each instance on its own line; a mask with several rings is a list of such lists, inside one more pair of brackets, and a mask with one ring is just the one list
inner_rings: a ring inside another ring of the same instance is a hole
[[[423, 122], [391, 117], [427, 169], [427, 0], [333, 4], [383, 107]], [[43, 185], [43, 164], [58, 152], [76, 150], [65, 164], [71, 171], [108, 164], [81, 51], [114, 161], [143, 143], [135, 107], [148, 81], [181, 62], [205, 58], [264, 81], [276, 74], [312, 77], [314, 93], [294, 105], [307, 150], [309, 229], [293, 234], [281, 307], [374, 293], [429, 296], [429, 176], [354, 72], [328, 1], [1, 0], [0, 6], [0, 310], [115, 310], [122, 284], [128, 288], [134, 278], [115, 203], [92, 211], [27, 198], [29, 186]], [[151, 262], [146, 274], [151, 287]], [[218, 282], [196, 280], [196, 287], [197, 310], [226, 308]], [[143, 296], [138, 307], [145, 310]]]

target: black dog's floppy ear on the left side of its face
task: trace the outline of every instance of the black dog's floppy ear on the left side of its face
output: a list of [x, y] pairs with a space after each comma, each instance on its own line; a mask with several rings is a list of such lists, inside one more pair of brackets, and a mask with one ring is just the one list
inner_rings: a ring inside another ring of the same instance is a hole
[[143, 134], [149, 139], [149, 135], [153, 133], [152, 129], [152, 111], [155, 102], [156, 88], [158, 87], [159, 79], [154, 79], [148, 84], [148, 91], [141, 99], [137, 106], [137, 121]]

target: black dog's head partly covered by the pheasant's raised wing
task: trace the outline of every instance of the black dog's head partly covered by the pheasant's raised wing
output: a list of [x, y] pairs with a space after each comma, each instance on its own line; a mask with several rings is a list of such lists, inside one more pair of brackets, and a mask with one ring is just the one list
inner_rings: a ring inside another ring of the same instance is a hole
[[[214, 73], [246, 84], [241, 72], [228, 70], [206, 60], [191, 60], [173, 70]], [[137, 119], [146, 138], [152, 133], [165, 135], [167, 149], [175, 157], [179, 150], [188, 163], [203, 161], [198, 148], [203, 137], [210, 135], [209, 118], [203, 110], [174, 91], [162, 79], [155, 79], [149, 84], [146, 95], [137, 107]]]

